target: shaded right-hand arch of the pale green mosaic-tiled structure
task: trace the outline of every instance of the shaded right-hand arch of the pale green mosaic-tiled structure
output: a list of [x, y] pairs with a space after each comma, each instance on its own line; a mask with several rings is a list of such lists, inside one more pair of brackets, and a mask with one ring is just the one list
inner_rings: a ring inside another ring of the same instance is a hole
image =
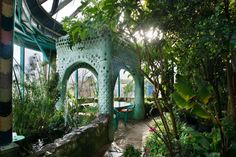
[[127, 48], [124, 44], [113, 46], [112, 51], [112, 84], [113, 89], [121, 69], [128, 71], [135, 82], [135, 110], [134, 119], [144, 117], [144, 76], [140, 71], [138, 55]]

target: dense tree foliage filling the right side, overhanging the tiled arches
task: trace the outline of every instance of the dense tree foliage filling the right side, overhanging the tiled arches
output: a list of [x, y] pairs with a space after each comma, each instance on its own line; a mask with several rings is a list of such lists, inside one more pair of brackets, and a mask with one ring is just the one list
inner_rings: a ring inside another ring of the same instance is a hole
[[[213, 120], [211, 132], [213, 128], [220, 132], [217, 151], [227, 156], [231, 142], [221, 119], [227, 115], [236, 124], [235, 12], [234, 0], [84, 0], [82, 18], [65, 18], [64, 28], [72, 43], [104, 28], [112, 31], [113, 40], [130, 41], [141, 58], [140, 70], [155, 88], [154, 102], [163, 126], [156, 124], [156, 129], [166, 155], [181, 155], [181, 138], [189, 133], [184, 134], [179, 121], [181, 115], [190, 114], [200, 123]], [[170, 113], [170, 123], [164, 111]]]

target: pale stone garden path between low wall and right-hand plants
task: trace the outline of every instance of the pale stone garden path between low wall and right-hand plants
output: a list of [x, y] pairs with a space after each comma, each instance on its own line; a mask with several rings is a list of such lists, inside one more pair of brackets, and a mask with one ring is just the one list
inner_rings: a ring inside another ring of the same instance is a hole
[[115, 132], [114, 142], [104, 157], [122, 157], [122, 152], [128, 144], [142, 150], [149, 132], [147, 124], [150, 124], [150, 122], [150, 119], [139, 122], [129, 121], [125, 128], [123, 122], [120, 121], [118, 130]]

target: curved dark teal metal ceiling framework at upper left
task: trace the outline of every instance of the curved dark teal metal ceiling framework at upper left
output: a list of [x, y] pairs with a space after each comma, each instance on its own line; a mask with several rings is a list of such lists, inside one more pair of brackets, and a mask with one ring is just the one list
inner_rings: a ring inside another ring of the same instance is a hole
[[15, 43], [43, 53], [55, 51], [55, 41], [66, 32], [63, 16], [76, 16], [80, 0], [17, 0], [15, 14]]

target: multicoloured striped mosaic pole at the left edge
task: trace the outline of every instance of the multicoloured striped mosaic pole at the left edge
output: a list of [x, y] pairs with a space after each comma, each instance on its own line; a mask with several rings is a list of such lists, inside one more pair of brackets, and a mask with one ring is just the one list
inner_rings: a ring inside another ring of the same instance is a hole
[[14, 0], [0, 1], [0, 146], [12, 142]]

